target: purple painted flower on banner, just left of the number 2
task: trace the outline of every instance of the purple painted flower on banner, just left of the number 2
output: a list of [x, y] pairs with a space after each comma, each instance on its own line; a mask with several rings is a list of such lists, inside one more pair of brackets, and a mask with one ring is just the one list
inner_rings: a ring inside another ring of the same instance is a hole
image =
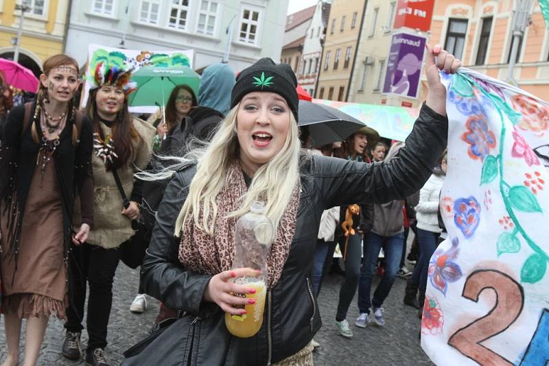
[[432, 286], [446, 296], [448, 282], [456, 282], [462, 276], [461, 268], [454, 262], [458, 257], [458, 238], [452, 239], [452, 247], [443, 252], [436, 250], [429, 263], [428, 276]]

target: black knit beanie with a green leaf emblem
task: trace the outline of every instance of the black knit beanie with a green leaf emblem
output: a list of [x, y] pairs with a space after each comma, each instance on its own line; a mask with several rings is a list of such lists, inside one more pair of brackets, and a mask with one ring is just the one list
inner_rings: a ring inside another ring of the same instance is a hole
[[231, 108], [248, 93], [277, 93], [286, 100], [297, 121], [299, 99], [296, 87], [296, 75], [289, 64], [275, 64], [270, 58], [261, 58], [236, 77], [236, 84], [231, 93]]

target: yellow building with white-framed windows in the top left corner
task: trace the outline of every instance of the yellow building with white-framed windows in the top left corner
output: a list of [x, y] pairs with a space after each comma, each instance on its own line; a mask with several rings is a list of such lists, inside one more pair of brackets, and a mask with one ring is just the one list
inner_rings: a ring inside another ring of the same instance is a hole
[[[21, 0], [0, 0], [0, 58], [12, 60], [21, 11]], [[40, 74], [43, 62], [64, 51], [65, 24], [70, 0], [25, 0], [30, 9], [23, 19], [19, 63]]]

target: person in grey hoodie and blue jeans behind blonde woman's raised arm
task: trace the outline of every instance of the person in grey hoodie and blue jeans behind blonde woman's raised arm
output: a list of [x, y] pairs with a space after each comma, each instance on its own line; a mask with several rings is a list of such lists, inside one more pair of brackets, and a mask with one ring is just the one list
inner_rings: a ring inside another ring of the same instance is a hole
[[[404, 143], [395, 143], [390, 147], [384, 159], [385, 164], [397, 156]], [[360, 315], [355, 326], [366, 328], [373, 321], [377, 326], [384, 326], [383, 302], [395, 283], [399, 270], [400, 258], [404, 249], [404, 217], [402, 207], [404, 199], [395, 199], [386, 204], [374, 204], [373, 226], [364, 238], [364, 261], [360, 269], [358, 282], [358, 310]], [[375, 272], [379, 251], [383, 248], [385, 271], [377, 285], [373, 297], [370, 297], [372, 276]], [[371, 312], [373, 316], [371, 316]]]

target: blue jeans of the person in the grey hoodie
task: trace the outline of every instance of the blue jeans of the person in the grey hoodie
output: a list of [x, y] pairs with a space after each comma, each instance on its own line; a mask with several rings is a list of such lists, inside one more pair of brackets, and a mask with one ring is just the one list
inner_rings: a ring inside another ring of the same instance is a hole
[[[366, 241], [364, 241], [364, 262], [362, 263], [362, 269], [360, 269], [360, 280], [358, 282], [358, 309], [360, 313], [370, 313], [372, 306], [374, 308], [382, 306], [397, 277], [397, 271], [400, 268], [400, 258], [404, 249], [403, 243], [403, 233], [393, 236], [381, 236], [373, 232], [366, 234]], [[372, 276], [375, 271], [379, 250], [382, 248], [385, 254], [385, 272], [370, 300]]]

